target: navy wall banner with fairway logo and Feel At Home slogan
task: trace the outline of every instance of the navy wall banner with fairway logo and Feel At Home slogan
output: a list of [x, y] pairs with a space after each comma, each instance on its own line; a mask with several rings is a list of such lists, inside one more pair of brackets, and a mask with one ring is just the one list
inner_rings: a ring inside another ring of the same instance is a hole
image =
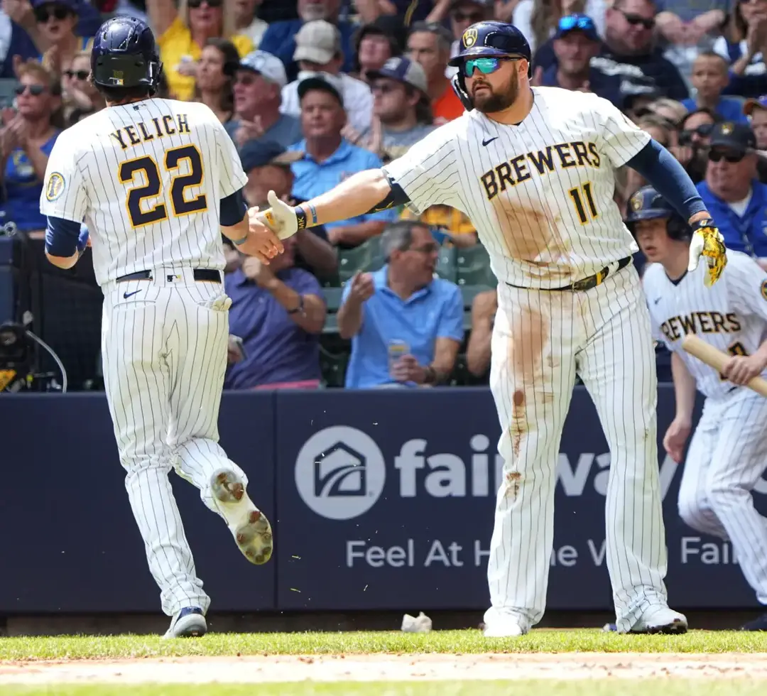
[[[325, 391], [277, 396], [281, 609], [484, 609], [499, 424], [489, 391]], [[670, 601], [756, 606], [729, 543], [679, 519], [681, 467], [660, 440]], [[576, 388], [555, 494], [550, 609], [611, 609], [604, 546], [610, 454], [591, 399]], [[755, 495], [767, 511], [767, 482]], [[727, 588], [721, 592], [716, 588]]]

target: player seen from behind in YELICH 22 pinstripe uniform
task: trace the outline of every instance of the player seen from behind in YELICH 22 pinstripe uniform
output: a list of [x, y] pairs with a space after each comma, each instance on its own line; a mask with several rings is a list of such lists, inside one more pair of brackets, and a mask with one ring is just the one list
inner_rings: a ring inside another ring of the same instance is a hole
[[[55, 266], [74, 266], [89, 242], [93, 249], [107, 401], [173, 638], [206, 632], [210, 599], [173, 498], [172, 467], [223, 517], [249, 561], [272, 554], [272, 530], [245, 492], [245, 473], [218, 444], [231, 304], [221, 233], [263, 262], [281, 242], [249, 231], [247, 178], [212, 111], [150, 98], [160, 70], [143, 21], [119, 17], [100, 27], [91, 79], [107, 108], [62, 134], [40, 208]], [[90, 236], [81, 234], [83, 222]]]

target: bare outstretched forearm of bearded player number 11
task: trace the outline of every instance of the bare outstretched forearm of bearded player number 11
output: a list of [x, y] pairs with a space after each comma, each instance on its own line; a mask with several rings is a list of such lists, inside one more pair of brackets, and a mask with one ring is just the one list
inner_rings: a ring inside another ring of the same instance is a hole
[[390, 193], [389, 180], [382, 170], [358, 172], [327, 193], [296, 206], [298, 229], [365, 215]]

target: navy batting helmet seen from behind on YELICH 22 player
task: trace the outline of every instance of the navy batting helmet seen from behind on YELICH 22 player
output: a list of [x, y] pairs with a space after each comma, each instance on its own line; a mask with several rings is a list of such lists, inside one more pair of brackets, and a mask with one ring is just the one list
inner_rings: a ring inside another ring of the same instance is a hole
[[148, 87], [160, 79], [160, 54], [149, 25], [133, 17], [114, 17], [96, 32], [91, 74], [99, 87]]

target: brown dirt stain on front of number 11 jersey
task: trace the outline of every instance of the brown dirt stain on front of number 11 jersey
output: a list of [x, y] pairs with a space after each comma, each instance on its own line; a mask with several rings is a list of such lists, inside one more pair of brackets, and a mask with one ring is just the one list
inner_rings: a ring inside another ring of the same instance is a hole
[[568, 246], [561, 239], [556, 219], [542, 208], [522, 206], [509, 200], [506, 193], [492, 199], [498, 229], [506, 252], [512, 259], [534, 268], [540, 280], [572, 282], [573, 269], [568, 266]]

